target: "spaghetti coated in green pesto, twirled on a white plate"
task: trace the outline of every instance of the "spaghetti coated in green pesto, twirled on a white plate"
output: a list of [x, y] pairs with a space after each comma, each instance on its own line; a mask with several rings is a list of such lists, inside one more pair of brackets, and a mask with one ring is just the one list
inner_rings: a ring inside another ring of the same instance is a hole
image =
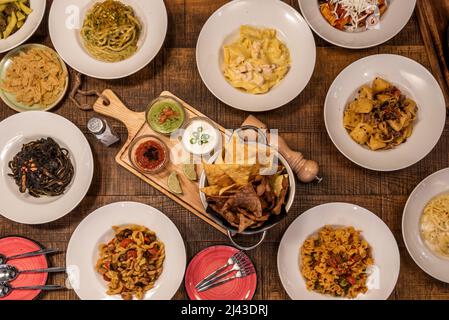
[[118, 62], [138, 49], [142, 25], [131, 6], [117, 0], [95, 3], [81, 29], [86, 50], [95, 58]]

